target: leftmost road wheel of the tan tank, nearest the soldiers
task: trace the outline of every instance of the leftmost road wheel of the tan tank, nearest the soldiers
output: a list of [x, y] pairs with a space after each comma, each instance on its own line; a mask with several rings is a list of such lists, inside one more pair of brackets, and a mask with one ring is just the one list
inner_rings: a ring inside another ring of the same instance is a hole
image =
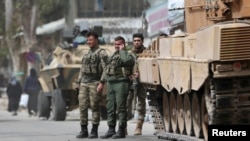
[[164, 117], [164, 125], [166, 132], [172, 132], [171, 129], [171, 118], [170, 118], [170, 109], [169, 109], [169, 93], [166, 91], [163, 92], [163, 117]]

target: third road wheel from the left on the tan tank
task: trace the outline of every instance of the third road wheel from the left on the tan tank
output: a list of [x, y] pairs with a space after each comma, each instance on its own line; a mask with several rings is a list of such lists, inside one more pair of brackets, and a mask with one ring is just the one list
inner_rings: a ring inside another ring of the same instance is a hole
[[185, 124], [184, 124], [184, 111], [183, 111], [183, 95], [180, 94], [177, 94], [177, 120], [180, 133], [184, 134]]

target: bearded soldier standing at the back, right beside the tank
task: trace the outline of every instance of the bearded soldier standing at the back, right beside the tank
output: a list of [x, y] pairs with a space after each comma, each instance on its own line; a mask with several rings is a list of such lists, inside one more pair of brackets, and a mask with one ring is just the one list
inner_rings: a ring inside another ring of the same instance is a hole
[[[131, 49], [131, 53], [134, 58], [138, 58], [139, 54], [143, 52], [146, 48], [143, 46], [144, 37], [140, 33], [136, 33], [133, 35], [133, 47]], [[127, 110], [128, 113], [132, 111], [132, 105], [135, 106], [134, 109], [138, 111], [138, 121], [135, 128], [134, 135], [141, 135], [142, 134], [142, 125], [144, 122], [144, 117], [146, 113], [146, 90], [139, 82], [139, 71], [137, 64], [135, 63], [133, 68], [133, 75], [132, 75], [133, 85], [130, 88], [128, 99], [127, 99]], [[138, 103], [136, 104], [138, 98]], [[132, 101], [135, 101], [135, 104], [132, 104]], [[137, 105], [137, 107], [136, 107]]]

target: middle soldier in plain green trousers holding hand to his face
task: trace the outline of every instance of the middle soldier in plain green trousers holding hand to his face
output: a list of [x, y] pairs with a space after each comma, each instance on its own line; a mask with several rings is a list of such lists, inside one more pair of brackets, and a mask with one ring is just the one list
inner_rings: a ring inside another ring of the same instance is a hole
[[[109, 57], [106, 66], [107, 94], [107, 123], [108, 131], [101, 138], [125, 138], [127, 127], [126, 100], [130, 87], [129, 76], [132, 74], [134, 58], [125, 50], [125, 40], [118, 36], [114, 41], [115, 52]], [[117, 110], [117, 114], [116, 114]], [[116, 133], [116, 115], [118, 115], [119, 129]]]

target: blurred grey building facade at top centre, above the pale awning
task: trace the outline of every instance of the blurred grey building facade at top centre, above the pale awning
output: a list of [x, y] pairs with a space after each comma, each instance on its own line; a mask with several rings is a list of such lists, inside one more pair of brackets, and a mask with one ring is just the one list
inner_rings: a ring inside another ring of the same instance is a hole
[[79, 18], [140, 17], [147, 0], [78, 0]]

